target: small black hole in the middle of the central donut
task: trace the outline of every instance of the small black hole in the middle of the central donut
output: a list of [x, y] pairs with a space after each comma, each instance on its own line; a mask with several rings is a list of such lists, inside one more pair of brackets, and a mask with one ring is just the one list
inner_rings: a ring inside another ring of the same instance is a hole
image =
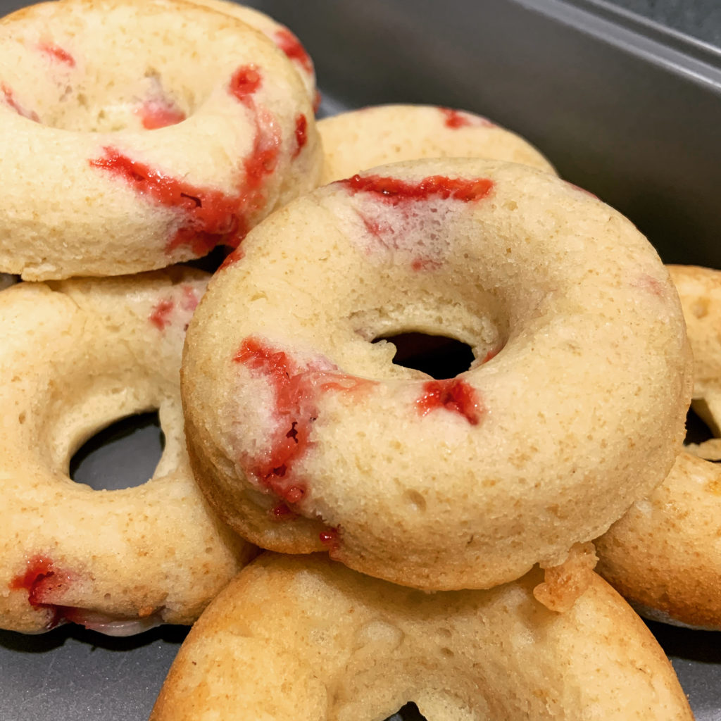
[[446, 335], [397, 333], [375, 338], [373, 342], [381, 340], [396, 347], [394, 365], [423, 371], [436, 380], [455, 378], [459, 373], [469, 370], [475, 360], [470, 345]]

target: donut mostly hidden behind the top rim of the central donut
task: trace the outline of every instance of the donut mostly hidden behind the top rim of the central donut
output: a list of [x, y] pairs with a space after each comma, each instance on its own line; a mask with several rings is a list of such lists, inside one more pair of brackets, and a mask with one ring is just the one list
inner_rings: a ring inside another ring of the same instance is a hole
[[376, 105], [318, 122], [322, 184], [417, 158], [487, 158], [555, 173], [534, 146], [487, 118], [435, 105]]

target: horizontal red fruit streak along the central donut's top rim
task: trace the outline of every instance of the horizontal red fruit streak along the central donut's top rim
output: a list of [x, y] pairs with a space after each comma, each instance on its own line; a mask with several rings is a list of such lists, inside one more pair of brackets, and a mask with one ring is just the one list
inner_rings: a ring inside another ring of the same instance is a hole
[[487, 198], [493, 190], [493, 181], [490, 178], [449, 178], [445, 175], [429, 175], [418, 182], [381, 175], [354, 175], [348, 180], [338, 182], [354, 195], [373, 193], [390, 205], [428, 198], [452, 198], [472, 203]]

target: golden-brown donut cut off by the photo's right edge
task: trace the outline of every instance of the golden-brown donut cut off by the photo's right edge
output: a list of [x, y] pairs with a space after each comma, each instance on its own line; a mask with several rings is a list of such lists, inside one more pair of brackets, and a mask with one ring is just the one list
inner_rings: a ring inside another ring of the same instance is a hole
[[[694, 354], [692, 407], [715, 438], [691, 444], [671, 473], [596, 545], [598, 571], [647, 618], [721, 630], [721, 271], [670, 266]], [[708, 460], [707, 460], [708, 459]]]

